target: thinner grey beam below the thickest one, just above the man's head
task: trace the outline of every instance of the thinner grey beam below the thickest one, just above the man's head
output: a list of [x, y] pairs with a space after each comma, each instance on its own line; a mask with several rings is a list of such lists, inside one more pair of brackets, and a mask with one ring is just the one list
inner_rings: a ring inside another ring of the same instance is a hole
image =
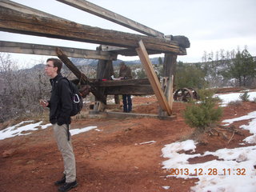
[[[104, 60], [116, 60], [117, 54], [112, 54], [101, 50], [83, 50], [77, 48], [58, 46], [65, 51], [66, 56], [70, 58], [92, 58]], [[23, 42], [5, 42], [0, 41], [0, 52], [16, 53], [16, 54], [41, 54], [58, 56], [56, 54], [56, 46], [45, 46], [38, 44], [30, 44]]]

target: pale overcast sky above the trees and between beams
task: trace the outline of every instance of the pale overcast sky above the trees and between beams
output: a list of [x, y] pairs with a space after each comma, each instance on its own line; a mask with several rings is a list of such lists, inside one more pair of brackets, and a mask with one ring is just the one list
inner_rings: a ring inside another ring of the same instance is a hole
[[[67, 6], [54, 0], [14, 0], [34, 9], [66, 18], [88, 26], [108, 30], [121, 30], [138, 34], [134, 30], [108, 22], [93, 14]], [[201, 62], [204, 51], [233, 50], [244, 46], [256, 56], [256, 1], [255, 0], [90, 0], [115, 13], [142, 23], [168, 35], [185, 35], [190, 39], [186, 56], [178, 61]], [[53, 26], [54, 27], [54, 26]], [[51, 38], [38, 38], [22, 34], [0, 32], [0, 40], [30, 42], [43, 45], [70, 46], [95, 50], [95, 44], [69, 42]], [[21, 61], [38, 62], [45, 57], [14, 54]], [[32, 60], [30, 60], [32, 58]], [[123, 58], [120, 59], [134, 59]], [[23, 60], [22, 60], [23, 59]]]

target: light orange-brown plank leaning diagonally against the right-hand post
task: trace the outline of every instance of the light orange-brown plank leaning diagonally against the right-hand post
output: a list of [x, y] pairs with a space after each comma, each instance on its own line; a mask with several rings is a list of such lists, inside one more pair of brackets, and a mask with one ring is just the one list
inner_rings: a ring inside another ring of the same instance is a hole
[[154, 94], [158, 98], [159, 105], [162, 107], [162, 110], [166, 110], [167, 114], [171, 115], [171, 107], [168, 104], [165, 95], [163, 94], [160, 82], [158, 81], [158, 77], [154, 72], [154, 68], [152, 66], [152, 63], [150, 62], [150, 58], [146, 52], [146, 48], [142, 40], [138, 42], [138, 46], [139, 47], [136, 49], [136, 51], [138, 52], [138, 56], [142, 62], [142, 66], [146, 71], [146, 75], [150, 80], [150, 84], [152, 86], [152, 89], [154, 90]]

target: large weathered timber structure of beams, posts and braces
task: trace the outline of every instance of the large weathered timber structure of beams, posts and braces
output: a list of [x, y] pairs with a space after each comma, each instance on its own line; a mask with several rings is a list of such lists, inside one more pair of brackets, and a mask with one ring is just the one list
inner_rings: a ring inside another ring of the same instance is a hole
[[[91, 86], [96, 101], [106, 104], [108, 94], [155, 94], [162, 112], [172, 114], [172, 85], [175, 76], [176, 59], [185, 55], [190, 47], [184, 36], [165, 35], [122, 15], [115, 14], [85, 0], [58, 0], [80, 10], [95, 14], [111, 22], [126, 26], [142, 34], [130, 34], [115, 30], [103, 30], [46, 14], [9, 0], [0, 2], [0, 30], [18, 34], [30, 34], [48, 38], [60, 38], [78, 42], [97, 43], [97, 50], [74, 49], [71, 47], [43, 46], [21, 42], [0, 42], [1, 52], [21, 54], [57, 55], [74, 72], [83, 84]], [[56, 49], [57, 48], [57, 49]], [[162, 86], [148, 54], [165, 54], [164, 80]], [[68, 57], [98, 59], [97, 79], [110, 79], [113, 73], [112, 61], [118, 54], [138, 55], [146, 70], [148, 79], [130, 79], [122, 81], [92, 81], [82, 74]], [[161, 112], [161, 113], [162, 113]]]

